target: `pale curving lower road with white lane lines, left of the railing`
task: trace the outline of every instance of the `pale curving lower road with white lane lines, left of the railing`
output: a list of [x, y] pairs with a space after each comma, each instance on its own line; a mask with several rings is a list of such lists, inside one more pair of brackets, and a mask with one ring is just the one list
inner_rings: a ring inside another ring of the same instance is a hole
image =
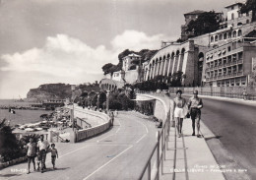
[[[140, 116], [140, 117], [139, 117]], [[25, 174], [27, 163], [3, 169], [0, 179], [137, 179], [156, 143], [154, 122], [135, 112], [121, 112], [108, 132], [78, 144], [57, 144], [60, 157], [52, 170]]]

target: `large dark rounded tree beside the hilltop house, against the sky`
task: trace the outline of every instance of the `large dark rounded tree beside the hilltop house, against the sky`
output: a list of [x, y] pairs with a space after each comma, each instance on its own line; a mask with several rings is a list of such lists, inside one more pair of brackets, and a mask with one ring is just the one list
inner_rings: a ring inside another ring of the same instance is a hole
[[194, 36], [216, 31], [219, 28], [219, 16], [214, 11], [205, 12], [194, 21], [191, 20], [186, 31], [193, 31]]

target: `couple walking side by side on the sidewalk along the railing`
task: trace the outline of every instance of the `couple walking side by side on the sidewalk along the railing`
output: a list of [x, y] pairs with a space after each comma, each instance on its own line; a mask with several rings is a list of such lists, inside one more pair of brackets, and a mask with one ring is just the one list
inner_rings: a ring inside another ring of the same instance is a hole
[[195, 136], [195, 126], [197, 125], [197, 137], [200, 138], [200, 120], [203, 101], [198, 97], [198, 90], [193, 91], [193, 96], [187, 101], [181, 96], [182, 90], [176, 91], [176, 97], [173, 99], [173, 118], [178, 132], [178, 138], [182, 135], [182, 124], [185, 117], [192, 119], [192, 136]]

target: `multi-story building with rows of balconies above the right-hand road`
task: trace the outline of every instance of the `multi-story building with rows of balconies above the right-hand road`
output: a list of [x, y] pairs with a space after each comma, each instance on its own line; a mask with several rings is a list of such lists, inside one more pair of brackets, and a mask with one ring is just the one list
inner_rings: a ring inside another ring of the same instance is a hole
[[225, 43], [209, 50], [206, 57], [206, 86], [245, 87], [256, 58], [256, 38], [241, 37]]

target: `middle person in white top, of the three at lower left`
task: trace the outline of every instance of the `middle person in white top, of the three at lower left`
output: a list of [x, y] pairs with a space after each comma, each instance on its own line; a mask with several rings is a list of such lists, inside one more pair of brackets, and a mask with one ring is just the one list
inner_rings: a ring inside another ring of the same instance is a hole
[[39, 150], [39, 155], [41, 158], [41, 173], [43, 173], [43, 170], [46, 169], [45, 166], [45, 160], [46, 160], [46, 153], [47, 150], [49, 150], [50, 144], [47, 140], [43, 140], [44, 136], [40, 135], [40, 141], [37, 143], [37, 148]]

